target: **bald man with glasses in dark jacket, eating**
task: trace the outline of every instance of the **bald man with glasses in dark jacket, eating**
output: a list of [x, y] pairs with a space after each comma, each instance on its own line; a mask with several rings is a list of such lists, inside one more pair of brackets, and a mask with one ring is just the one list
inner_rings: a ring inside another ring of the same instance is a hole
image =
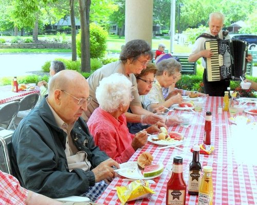
[[63, 70], [52, 77], [48, 92], [12, 136], [14, 174], [23, 187], [51, 198], [96, 200], [119, 164], [95, 146], [80, 117], [90, 103], [88, 83], [78, 72]]

